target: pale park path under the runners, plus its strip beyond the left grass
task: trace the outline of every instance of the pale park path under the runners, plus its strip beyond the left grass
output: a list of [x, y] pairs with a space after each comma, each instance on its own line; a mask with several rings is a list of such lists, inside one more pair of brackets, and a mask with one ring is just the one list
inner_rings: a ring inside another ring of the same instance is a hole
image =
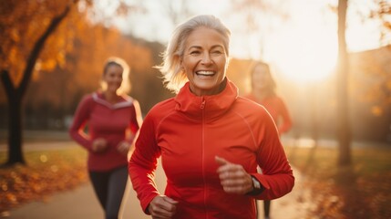
[[[58, 149], [69, 147], [69, 142], [52, 142], [27, 144], [26, 150]], [[0, 145], [0, 151], [2, 150]], [[273, 219], [303, 219], [314, 207], [310, 200], [310, 191], [305, 188], [304, 175], [293, 168], [296, 181], [293, 192], [282, 198], [273, 200], [271, 216]], [[156, 173], [156, 182], [160, 192], [164, 191], [166, 178], [159, 165]], [[144, 214], [140, 208], [136, 193], [128, 184], [126, 202], [123, 205], [123, 218], [127, 219], [148, 219], [150, 216]], [[262, 202], [258, 202], [260, 217], [262, 219]], [[98, 200], [92, 190], [90, 183], [84, 183], [74, 190], [61, 192], [48, 197], [43, 202], [26, 203], [18, 208], [12, 209], [4, 217], [9, 219], [84, 219], [104, 218]]]

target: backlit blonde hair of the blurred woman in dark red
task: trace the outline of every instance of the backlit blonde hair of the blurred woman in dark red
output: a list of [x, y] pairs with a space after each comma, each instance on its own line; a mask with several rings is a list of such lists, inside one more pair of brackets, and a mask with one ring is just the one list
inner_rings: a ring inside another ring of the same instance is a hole
[[[102, 76], [105, 76], [110, 66], [118, 66], [122, 68], [122, 83], [121, 86], [117, 89], [117, 94], [118, 95], [128, 94], [131, 89], [130, 79], [129, 79], [130, 67], [128, 63], [120, 57], [108, 57], [108, 59], [105, 62], [105, 66], [103, 68]], [[103, 90], [107, 89], [108, 87], [106, 82], [103, 80], [101, 81], [100, 86], [101, 89]]]

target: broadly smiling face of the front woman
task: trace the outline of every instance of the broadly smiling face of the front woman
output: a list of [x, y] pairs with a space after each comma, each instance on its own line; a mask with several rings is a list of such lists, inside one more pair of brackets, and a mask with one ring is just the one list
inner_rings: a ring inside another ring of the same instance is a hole
[[201, 26], [188, 36], [181, 67], [195, 95], [214, 95], [221, 91], [228, 59], [223, 45], [223, 36], [211, 28]]

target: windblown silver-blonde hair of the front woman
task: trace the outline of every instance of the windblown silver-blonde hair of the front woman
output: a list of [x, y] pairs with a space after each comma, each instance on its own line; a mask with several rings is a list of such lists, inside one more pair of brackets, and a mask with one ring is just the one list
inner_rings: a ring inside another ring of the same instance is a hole
[[185, 72], [180, 68], [186, 40], [192, 31], [201, 26], [214, 29], [221, 34], [225, 53], [229, 56], [231, 31], [221, 23], [219, 18], [211, 15], [194, 16], [177, 26], [172, 33], [169, 45], [163, 53], [163, 63], [155, 67], [163, 75], [163, 83], [165, 83], [166, 88], [174, 93], [178, 93], [180, 88], [188, 81]]

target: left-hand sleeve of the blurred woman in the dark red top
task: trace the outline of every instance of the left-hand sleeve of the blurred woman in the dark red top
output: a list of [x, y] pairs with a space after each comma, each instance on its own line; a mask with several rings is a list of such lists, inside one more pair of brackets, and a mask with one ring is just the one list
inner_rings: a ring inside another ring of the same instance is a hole
[[86, 96], [80, 101], [69, 129], [70, 137], [88, 151], [92, 150], [92, 141], [84, 129], [91, 113], [92, 104], [93, 101], [90, 96]]

